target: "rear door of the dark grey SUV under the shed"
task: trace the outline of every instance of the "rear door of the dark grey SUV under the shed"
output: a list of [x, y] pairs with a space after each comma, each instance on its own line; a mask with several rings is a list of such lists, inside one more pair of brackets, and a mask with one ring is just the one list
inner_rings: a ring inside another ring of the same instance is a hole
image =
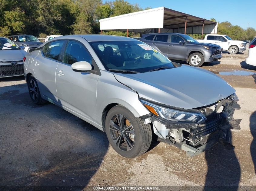
[[169, 36], [169, 34], [157, 34], [151, 46], [159, 49], [163, 55], [168, 56]]

